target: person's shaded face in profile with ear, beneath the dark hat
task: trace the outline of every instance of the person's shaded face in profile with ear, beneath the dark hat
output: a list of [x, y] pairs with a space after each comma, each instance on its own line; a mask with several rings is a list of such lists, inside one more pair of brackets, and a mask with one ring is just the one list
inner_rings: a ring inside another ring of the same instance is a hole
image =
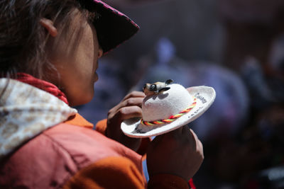
[[71, 105], [92, 100], [94, 82], [98, 76], [98, 59], [103, 51], [99, 46], [97, 31], [77, 8], [72, 11], [68, 29], [59, 29], [52, 21], [43, 18], [40, 24], [50, 33], [46, 44], [48, 60], [55, 67], [46, 80], [65, 92]]

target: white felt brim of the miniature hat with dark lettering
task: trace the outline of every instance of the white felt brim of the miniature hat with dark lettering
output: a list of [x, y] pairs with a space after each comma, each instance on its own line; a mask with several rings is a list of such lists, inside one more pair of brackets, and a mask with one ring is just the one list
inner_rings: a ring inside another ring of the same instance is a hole
[[199, 118], [212, 105], [216, 97], [214, 88], [209, 86], [192, 86], [187, 91], [192, 98], [197, 98], [195, 108], [190, 110], [189, 113], [182, 115], [173, 122], [154, 126], [142, 125], [141, 118], [124, 120], [124, 122], [121, 122], [121, 130], [127, 136], [134, 138], [157, 136], [176, 130]]

